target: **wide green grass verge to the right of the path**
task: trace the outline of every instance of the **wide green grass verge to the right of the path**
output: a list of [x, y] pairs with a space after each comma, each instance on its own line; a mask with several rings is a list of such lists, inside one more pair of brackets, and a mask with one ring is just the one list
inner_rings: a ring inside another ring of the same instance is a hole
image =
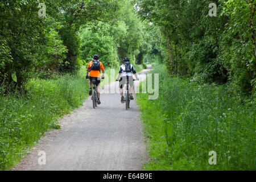
[[[159, 73], [159, 98], [137, 94], [150, 160], [145, 170], [255, 170], [255, 104], [227, 86], [200, 85]], [[210, 165], [209, 151], [217, 164]]]

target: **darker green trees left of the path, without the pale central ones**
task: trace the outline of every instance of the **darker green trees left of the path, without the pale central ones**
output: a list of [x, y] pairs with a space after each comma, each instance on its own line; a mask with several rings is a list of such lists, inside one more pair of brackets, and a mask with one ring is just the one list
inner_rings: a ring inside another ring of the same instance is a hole
[[6, 93], [26, 91], [24, 84], [35, 72], [77, 72], [80, 27], [96, 20], [114, 22], [122, 7], [121, 0], [44, 4], [46, 16], [36, 0], [0, 2], [0, 82]]

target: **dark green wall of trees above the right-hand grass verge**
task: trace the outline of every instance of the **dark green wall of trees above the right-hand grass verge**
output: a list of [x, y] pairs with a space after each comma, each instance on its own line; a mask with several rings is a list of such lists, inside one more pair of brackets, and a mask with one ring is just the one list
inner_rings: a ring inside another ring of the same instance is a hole
[[[138, 14], [159, 27], [159, 51], [170, 73], [197, 81], [230, 82], [240, 96], [255, 94], [254, 0], [136, 0]], [[217, 16], [209, 16], [216, 3]]]

